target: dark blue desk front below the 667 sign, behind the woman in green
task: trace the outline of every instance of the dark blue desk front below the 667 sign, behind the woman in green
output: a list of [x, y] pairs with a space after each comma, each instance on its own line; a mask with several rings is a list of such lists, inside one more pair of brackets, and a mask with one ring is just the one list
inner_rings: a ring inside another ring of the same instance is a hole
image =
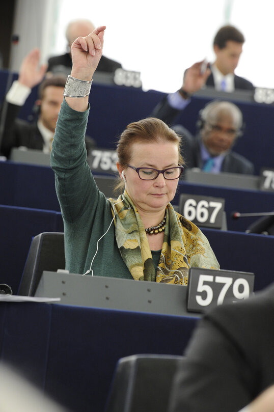
[[[63, 232], [60, 212], [0, 205], [0, 283], [16, 294], [33, 236]], [[255, 290], [273, 281], [274, 236], [202, 229], [222, 269], [255, 273]]]

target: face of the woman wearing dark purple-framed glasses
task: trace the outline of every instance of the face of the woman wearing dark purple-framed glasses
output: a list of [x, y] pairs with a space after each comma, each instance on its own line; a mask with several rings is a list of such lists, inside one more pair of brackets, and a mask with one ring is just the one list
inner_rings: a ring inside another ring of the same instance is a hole
[[[158, 170], [178, 166], [178, 146], [172, 142], [133, 143], [130, 166]], [[118, 167], [120, 175], [122, 168]], [[167, 180], [160, 173], [155, 180], [142, 180], [131, 168], [124, 169], [126, 190], [139, 211], [159, 211], [175, 196], [178, 180]]]

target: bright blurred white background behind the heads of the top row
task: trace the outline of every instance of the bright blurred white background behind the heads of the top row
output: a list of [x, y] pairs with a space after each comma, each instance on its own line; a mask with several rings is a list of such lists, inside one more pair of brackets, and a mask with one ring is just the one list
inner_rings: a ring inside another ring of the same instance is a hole
[[245, 36], [235, 73], [257, 87], [274, 88], [274, 3], [269, 0], [10, 0], [3, 9], [3, 67], [13, 71], [35, 46], [42, 62], [65, 52], [68, 21], [88, 18], [107, 26], [104, 55], [126, 70], [140, 71], [143, 90], [172, 92], [189, 65], [213, 60], [213, 37], [230, 23]]

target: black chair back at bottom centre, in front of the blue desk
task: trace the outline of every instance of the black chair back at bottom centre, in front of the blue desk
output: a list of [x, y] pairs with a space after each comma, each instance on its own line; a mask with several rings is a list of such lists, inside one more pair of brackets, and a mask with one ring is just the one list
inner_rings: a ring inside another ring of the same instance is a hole
[[137, 354], [118, 361], [105, 412], [167, 412], [183, 356]]

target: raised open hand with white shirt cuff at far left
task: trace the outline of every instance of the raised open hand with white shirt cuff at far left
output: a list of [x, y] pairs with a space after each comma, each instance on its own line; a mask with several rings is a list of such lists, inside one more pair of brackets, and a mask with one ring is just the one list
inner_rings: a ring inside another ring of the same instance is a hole
[[28, 86], [31, 89], [41, 83], [44, 78], [47, 65], [39, 65], [40, 50], [34, 48], [23, 59], [20, 69], [18, 81], [24, 86]]

